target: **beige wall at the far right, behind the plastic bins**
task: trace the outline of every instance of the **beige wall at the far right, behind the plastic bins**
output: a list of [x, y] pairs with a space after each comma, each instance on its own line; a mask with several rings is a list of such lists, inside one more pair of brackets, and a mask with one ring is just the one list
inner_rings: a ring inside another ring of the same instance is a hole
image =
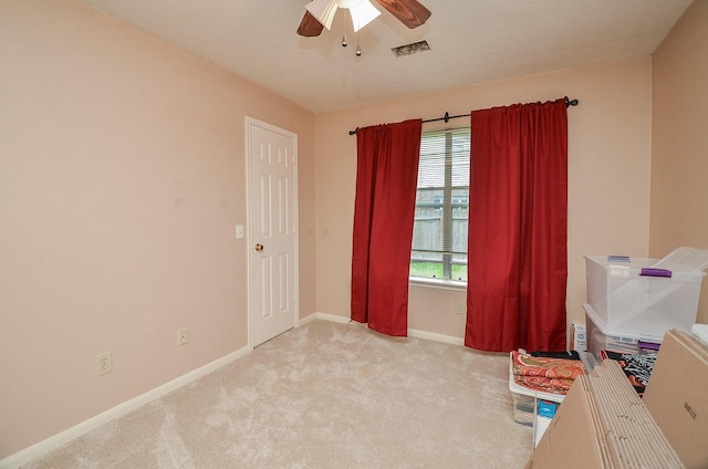
[[[650, 254], [708, 249], [708, 1], [697, 0], [654, 54]], [[708, 323], [708, 281], [697, 321]]]

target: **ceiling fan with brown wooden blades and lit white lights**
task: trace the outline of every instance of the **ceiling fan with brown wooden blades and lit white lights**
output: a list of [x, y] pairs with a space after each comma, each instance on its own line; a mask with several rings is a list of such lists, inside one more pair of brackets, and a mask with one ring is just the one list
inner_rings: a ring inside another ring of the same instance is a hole
[[[424, 24], [430, 18], [430, 10], [417, 0], [376, 0], [376, 2], [409, 29]], [[300, 22], [298, 34], [312, 38], [320, 35], [324, 28], [329, 30], [339, 8], [348, 9], [352, 13], [354, 32], [381, 14], [368, 0], [313, 0], [305, 6], [308, 11]]]

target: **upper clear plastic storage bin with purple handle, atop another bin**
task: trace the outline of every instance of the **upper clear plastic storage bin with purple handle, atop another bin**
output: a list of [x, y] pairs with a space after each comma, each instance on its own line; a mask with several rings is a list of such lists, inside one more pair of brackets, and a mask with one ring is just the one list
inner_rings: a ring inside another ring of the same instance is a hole
[[[595, 324], [634, 338], [660, 338], [671, 327], [690, 331], [706, 267], [708, 251], [693, 248], [678, 248], [659, 261], [586, 256], [587, 303]], [[670, 277], [643, 275], [647, 268]]]

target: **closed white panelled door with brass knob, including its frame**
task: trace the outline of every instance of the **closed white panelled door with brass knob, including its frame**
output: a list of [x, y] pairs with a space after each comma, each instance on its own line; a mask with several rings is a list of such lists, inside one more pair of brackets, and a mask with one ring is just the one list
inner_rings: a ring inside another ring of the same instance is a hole
[[247, 117], [251, 344], [296, 325], [298, 136]]

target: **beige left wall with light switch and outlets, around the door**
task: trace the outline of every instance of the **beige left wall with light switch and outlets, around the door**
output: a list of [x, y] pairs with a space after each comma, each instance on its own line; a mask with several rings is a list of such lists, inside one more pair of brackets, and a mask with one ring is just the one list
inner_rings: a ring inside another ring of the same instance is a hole
[[311, 112], [76, 1], [0, 0], [0, 459], [248, 345], [247, 115], [299, 135], [314, 311]]

